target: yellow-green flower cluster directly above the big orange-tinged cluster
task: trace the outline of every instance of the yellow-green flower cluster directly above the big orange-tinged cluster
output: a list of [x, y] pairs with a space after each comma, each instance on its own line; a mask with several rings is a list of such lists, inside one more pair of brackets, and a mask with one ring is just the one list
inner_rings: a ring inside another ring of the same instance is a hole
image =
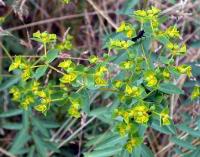
[[139, 97], [142, 94], [140, 87], [126, 85], [124, 93], [131, 97]]

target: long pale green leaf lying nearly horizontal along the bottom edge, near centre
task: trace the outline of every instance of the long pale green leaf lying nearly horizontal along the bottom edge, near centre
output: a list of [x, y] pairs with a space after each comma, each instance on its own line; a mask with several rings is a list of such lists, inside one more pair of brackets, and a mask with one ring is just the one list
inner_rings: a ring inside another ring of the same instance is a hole
[[119, 153], [122, 150], [122, 147], [110, 147], [106, 149], [96, 150], [91, 153], [84, 153], [84, 157], [109, 157]]

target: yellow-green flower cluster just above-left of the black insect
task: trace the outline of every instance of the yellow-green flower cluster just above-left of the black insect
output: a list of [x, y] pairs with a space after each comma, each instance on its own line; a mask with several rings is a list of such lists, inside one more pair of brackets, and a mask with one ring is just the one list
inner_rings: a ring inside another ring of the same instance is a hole
[[122, 22], [117, 28], [117, 32], [123, 32], [128, 38], [132, 38], [136, 35], [135, 29], [129, 23]]

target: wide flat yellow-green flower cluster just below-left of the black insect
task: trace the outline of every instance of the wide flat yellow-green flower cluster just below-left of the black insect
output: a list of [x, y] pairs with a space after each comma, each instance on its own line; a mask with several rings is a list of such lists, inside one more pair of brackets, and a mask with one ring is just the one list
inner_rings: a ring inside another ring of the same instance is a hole
[[114, 47], [114, 48], [119, 48], [119, 49], [128, 49], [130, 46], [134, 44], [133, 41], [131, 40], [118, 40], [118, 39], [110, 39], [109, 46]]

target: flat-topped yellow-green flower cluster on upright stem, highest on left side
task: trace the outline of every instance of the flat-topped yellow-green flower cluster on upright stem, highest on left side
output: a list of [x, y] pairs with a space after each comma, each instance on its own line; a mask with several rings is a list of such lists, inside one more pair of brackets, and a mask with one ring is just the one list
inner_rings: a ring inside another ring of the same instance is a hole
[[48, 32], [40, 32], [37, 31], [33, 33], [33, 39], [35, 41], [41, 42], [41, 43], [50, 43], [50, 42], [55, 42], [57, 39], [56, 34], [49, 34]]

